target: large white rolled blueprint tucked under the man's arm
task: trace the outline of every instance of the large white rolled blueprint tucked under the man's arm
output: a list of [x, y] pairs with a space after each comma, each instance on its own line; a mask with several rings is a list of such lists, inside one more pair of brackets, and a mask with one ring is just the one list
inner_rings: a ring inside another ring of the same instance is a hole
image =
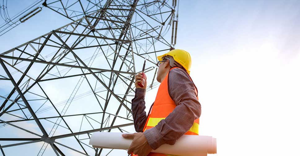
[[[123, 133], [95, 132], [90, 138], [94, 148], [128, 150], [132, 139], [122, 137]], [[151, 152], [180, 156], [206, 156], [217, 153], [217, 139], [211, 136], [183, 135], [174, 145], [163, 144]]]

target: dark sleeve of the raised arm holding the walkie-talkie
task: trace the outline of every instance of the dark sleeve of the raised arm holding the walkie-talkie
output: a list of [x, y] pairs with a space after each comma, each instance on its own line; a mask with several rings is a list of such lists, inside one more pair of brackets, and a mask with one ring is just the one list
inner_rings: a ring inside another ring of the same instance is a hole
[[145, 94], [146, 89], [136, 88], [135, 97], [131, 100], [132, 117], [136, 132], [143, 132], [143, 127], [147, 121]]

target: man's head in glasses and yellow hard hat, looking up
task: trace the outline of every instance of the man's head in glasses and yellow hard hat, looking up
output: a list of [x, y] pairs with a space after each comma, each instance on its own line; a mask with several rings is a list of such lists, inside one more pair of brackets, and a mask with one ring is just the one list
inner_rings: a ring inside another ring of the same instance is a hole
[[192, 59], [187, 51], [174, 49], [168, 53], [157, 56], [158, 59], [158, 71], [157, 71], [157, 81], [162, 82], [165, 76], [172, 67], [179, 67], [190, 74], [190, 68], [192, 64]]

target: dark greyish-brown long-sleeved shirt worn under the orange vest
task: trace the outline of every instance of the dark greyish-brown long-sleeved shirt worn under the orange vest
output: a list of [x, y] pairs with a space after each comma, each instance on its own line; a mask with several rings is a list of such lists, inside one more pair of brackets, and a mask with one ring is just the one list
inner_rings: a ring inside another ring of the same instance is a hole
[[[153, 150], [165, 143], [173, 145], [201, 115], [201, 104], [197, 100], [194, 84], [182, 69], [175, 68], [169, 72], [169, 90], [176, 104], [175, 109], [155, 127], [144, 132]], [[142, 132], [147, 121], [145, 93], [145, 89], [136, 88], [131, 101], [136, 132]]]

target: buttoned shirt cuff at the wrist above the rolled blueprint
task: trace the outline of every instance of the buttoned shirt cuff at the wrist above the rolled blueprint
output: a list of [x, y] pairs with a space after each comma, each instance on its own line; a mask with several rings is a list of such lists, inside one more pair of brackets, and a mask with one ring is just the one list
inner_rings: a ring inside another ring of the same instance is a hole
[[156, 150], [159, 146], [165, 144], [165, 141], [162, 139], [161, 134], [156, 127], [145, 130], [144, 135], [153, 150]]

